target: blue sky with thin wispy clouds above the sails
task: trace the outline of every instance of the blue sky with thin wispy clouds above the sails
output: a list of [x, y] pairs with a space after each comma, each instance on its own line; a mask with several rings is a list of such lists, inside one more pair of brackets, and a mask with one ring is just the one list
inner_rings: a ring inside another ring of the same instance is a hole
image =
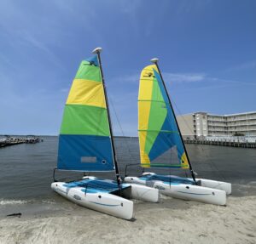
[[177, 115], [256, 111], [256, 1], [0, 2], [0, 134], [57, 135], [81, 60], [102, 47], [115, 135], [137, 135], [140, 72]]

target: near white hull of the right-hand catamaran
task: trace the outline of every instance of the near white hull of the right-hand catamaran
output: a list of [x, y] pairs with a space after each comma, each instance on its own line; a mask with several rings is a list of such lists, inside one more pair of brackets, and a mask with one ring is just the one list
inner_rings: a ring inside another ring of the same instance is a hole
[[[146, 184], [160, 190], [166, 196], [172, 196], [184, 200], [201, 201], [216, 205], [226, 204], [226, 192], [211, 187], [194, 184], [168, 184], [160, 180], [144, 180], [137, 177], [125, 177], [125, 182], [135, 184]], [[213, 185], [212, 180], [203, 181], [204, 184]], [[216, 181], [215, 181], [216, 183]]]

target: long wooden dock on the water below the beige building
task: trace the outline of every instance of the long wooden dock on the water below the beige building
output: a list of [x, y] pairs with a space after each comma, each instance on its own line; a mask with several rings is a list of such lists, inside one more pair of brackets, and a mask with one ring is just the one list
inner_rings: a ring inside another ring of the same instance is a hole
[[221, 146], [233, 146], [233, 147], [243, 147], [243, 148], [256, 148], [256, 143], [247, 142], [247, 141], [185, 139], [184, 142], [186, 144], [221, 145]]

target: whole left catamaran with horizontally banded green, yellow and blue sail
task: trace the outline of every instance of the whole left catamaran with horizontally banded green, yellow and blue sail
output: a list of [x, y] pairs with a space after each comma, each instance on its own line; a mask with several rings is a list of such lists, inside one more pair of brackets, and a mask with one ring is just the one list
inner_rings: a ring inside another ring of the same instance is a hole
[[100, 53], [83, 60], [69, 91], [59, 136], [57, 170], [115, 172], [116, 180], [84, 176], [72, 182], [55, 180], [52, 190], [81, 206], [118, 218], [133, 218], [131, 198], [157, 202], [159, 190], [122, 183], [115, 156], [108, 96]]

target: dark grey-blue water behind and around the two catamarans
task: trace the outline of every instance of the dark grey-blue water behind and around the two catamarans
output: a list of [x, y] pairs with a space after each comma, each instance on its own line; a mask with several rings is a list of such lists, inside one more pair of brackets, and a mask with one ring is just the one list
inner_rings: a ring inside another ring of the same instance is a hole
[[[43, 210], [77, 209], [50, 189], [57, 159], [57, 137], [43, 137], [38, 144], [21, 144], [0, 148], [0, 212], [33, 213]], [[125, 175], [125, 166], [139, 163], [137, 138], [114, 139], [119, 171]], [[187, 145], [190, 161], [198, 177], [232, 183], [233, 196], [256, 195], [256, 150], [213, 145]], [[150, 171], [150, 170], [148, 170]], [[185, 176], [183, 170], [154, 169], [156, 173]], [[142, 173], [139, 166], [128, 167], [129, 175]], [[187, 172], [189, 174], [189, 172]], [[57, 179], [80, 179], [82, 173], [57, 172]], [[114, 179], [114, 173], [94, 173]], [[29, 207], [28, 207], [29, 206]], [[42, 210], [43, 209], [43, 210]]]

